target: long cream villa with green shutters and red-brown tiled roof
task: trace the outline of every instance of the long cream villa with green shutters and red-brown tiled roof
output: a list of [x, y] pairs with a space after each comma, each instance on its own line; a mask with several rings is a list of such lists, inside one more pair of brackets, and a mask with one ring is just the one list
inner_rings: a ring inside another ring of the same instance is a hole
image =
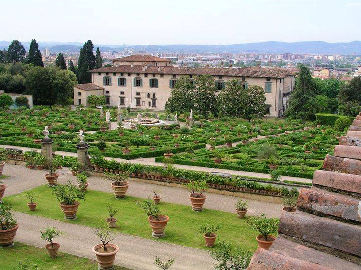
[[169, 59], [151, 55], [131, 55], [113, 59], [112, 67], [90, 70], [92, 83], [74, 86], [74, 104], [89, 106], [91, 94], [105, 95], [106, 106], [164, 110], [177, 79], [187, 75], [194, 80], [198, 75], [211, 75], [216, 87], [222, 90], [225, 83], [238, 79], [244, 88], [258, 85], [265, 91], [267, 115], [282, 116], [284, 94], [294, 87], [296, 73], [284, 69], [261, 67], [244, 68], [189, 68], [173, 67]]

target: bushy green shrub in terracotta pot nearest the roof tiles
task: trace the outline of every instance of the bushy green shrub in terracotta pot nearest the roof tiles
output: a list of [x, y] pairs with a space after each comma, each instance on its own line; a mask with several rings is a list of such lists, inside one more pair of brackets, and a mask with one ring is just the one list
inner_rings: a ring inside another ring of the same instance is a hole
[[276, 237], [271, 233], [277, 232], [279, 220], [277, 218], [266, 218], [266, 215], [262, 213], [260, 217], [250, 217], [247, 219], [247, 223], [252, 229], [260, 233], [256, 237], [258, 247], [268, 250], [273, 241], [276, 240]]

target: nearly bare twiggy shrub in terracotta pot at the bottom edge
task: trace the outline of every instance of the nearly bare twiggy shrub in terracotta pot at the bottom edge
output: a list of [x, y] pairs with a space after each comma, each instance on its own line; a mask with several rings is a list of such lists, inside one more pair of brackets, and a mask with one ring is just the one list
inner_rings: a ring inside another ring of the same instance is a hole
[[117, 245], [110, 243], [110, 241], [113, 241], [115, 234], [105, 229], [96, 229], [93, 233], [102, 242], [102, 244], [95, 245], [92, 248], [97, 257], [98, 269], [113, 269], [115, 255], [119, 251]]

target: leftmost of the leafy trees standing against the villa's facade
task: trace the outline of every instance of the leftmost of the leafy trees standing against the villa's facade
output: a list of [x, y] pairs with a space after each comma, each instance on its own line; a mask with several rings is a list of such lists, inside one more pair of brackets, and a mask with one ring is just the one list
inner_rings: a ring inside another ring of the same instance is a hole
[[165, 103], [165, 109], [169, 112], [190, 112], [194, 109], [194, 84], [189, 76], [181, 76], [174, 88], [172, 95]]

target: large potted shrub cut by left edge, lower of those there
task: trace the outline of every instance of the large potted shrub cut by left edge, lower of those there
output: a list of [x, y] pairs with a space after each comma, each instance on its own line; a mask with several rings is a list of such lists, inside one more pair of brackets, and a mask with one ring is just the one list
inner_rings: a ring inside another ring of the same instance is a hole
[[0, 246], [13, 246], [18, 223], [14, 217], [11, 206], [0, 203]]

